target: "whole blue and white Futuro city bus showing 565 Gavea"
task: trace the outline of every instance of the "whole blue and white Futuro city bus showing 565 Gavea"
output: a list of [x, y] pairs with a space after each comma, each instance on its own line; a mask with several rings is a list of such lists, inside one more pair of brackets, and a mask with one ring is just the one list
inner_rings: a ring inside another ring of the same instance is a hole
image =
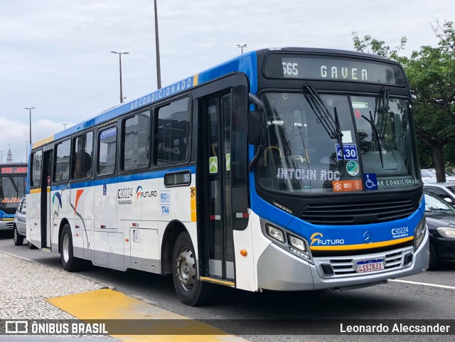
[[410, 87], [376, 55], [274, 48], [33, 144], [27, 240], [112, 269], [211, 283], [356, 288], [428, 264]]

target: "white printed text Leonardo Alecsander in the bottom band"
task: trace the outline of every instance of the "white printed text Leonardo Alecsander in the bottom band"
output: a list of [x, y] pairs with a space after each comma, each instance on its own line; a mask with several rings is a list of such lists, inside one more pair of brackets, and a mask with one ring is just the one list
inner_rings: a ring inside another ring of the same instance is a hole
[[443, 324], [365, 324], [344, 325], [340, 324], [341, 333], [450, 333], [450, 325]]

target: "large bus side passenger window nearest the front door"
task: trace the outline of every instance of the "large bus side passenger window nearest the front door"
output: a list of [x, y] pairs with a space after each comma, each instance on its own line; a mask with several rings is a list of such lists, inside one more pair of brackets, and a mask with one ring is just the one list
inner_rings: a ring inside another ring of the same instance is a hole
[[187, 161], [190, 154], [191, 102], [188, 97], [158, 109], [156, 164]]

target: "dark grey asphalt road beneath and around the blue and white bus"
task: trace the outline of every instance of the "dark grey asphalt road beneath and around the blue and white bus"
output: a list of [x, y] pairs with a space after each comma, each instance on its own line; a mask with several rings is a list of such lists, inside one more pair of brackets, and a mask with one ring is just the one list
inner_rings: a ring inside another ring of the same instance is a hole
[[[60, 268], [60, 255], [30, 250], [25, 244], [15, 246], [11, 234], [0, 232], [0, 250]], [[216, 286], [215, 301], [198, 308], [181, 304], [171, 277], [92, 266], [79, 273], [110, 284], [129, 296], [193, 319], [455, 319], [455, 288], [429, 285], [455, 287], [455, 263], [443, 264], [438, 271], [402, 278], [428, 284], [389, 282], [349, 291], [262, 293]], [[230, 321], [220, 322], [220, 328], [223, 324], [232, 324]], [[261, 324], [248, 328], [253, 333], [244, 337], [251, 341], [453, 341], [453, 336], [266, 336], [261, 335]], [[241, 325], [238, 332], [243, 335]]]

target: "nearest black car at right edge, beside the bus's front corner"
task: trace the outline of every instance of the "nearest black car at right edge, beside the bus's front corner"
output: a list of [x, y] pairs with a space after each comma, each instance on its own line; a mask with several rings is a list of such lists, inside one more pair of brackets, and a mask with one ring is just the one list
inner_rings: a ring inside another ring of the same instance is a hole
[[425, 216], [429, 231], [429, 266], [436, 269], [439, 262], [455, 260], [455, 208], [446, 201], [425, 191]]

